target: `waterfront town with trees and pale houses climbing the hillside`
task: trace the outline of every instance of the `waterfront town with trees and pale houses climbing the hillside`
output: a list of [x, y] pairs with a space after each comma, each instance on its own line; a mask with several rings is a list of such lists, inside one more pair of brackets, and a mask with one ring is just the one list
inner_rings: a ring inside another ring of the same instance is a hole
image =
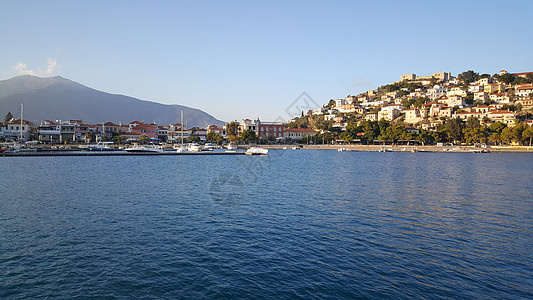
[[533, 138], [533, 72], [494, 75], [469, 70], [429, 76], [401, 75], [400, 81], [357, 96], [331, 99], [302, 111], [288, 122], [259, 119], [232, 121], [223, 127], [82, 120], [33, 124], [8, 113], [0, 122], [0, 141], [43, 144], [117, 144], [153, 142], [243, 143], [467, 143], [531, 145]]

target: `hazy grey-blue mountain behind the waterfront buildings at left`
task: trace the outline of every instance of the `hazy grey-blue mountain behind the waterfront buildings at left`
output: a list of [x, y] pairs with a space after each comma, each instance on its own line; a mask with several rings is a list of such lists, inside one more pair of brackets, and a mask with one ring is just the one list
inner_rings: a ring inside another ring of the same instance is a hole
[[88, 124], [108, 121], [127, 124], [138, 120], [168, 125], [180, 122], [183, 110], [183, 121], [189, 128], [224, 124], [199, 109], [109, 94], [60, 76], [23, 75], [0, 81], [0, 120], [8, 112], [20, 117], [21, 102], [24, 103], [24, 119], [37, 123], [81, 119]]

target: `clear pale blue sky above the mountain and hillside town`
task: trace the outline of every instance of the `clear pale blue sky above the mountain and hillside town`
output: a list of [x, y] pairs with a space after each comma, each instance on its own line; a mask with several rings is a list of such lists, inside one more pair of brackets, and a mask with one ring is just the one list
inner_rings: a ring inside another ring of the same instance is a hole
[[0, 1], [0, 79], [60, 75], [224, 121], [400, 75], [533, 71], [533, 1]]

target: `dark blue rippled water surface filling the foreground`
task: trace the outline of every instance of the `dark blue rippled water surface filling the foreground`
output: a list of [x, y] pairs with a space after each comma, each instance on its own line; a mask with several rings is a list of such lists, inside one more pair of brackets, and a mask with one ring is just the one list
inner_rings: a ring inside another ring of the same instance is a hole
[[533, 298], [531, 154], [0, 166], [0, 298]]

